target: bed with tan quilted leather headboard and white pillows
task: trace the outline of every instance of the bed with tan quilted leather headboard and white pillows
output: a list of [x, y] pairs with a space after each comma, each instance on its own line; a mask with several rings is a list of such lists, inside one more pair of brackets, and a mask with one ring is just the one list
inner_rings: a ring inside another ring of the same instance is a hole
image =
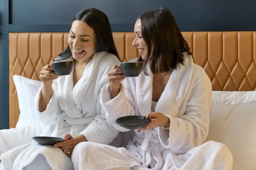
[[[256, 100], [256, 32], [182, 34], [194, 62], [212, 82], [212, 119], [206, 141], [223, 142], [230, 148], [233, 169], [256, 167], [256, 135], [248, 132], [256, 129], [256, 103], [250, 103]], [[37, 123], [31, 102], [41, 86], [40, 71], [67, 46], [67, 37], [68, 33], [9, 33], [10, 128], [31, 120]], [[113, 37], [123, 62], [138, 57], [131, 45], [134, 33], [114, 32]]]

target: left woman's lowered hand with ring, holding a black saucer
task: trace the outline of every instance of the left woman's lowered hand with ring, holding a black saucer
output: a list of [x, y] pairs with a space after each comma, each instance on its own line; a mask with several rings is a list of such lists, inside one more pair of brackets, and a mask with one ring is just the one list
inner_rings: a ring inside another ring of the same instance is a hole
[[70, 134], [63, 137], [63, 142], [55, 143], [54, 147], [60, 147], [67, 156], [71, 156], [75, 146], [80, 142], [87, 141], [84, 135], [73, 138]]

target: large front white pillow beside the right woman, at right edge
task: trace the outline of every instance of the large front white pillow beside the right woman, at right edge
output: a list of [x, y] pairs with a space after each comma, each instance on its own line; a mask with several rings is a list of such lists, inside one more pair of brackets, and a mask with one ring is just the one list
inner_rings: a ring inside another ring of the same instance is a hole
[[[232, 170], [256, 167], [256, 101], [214, 105], [206, 141], [225, 144], [233, 155]], [[205, 142], [206, 142], [205, 141]]]

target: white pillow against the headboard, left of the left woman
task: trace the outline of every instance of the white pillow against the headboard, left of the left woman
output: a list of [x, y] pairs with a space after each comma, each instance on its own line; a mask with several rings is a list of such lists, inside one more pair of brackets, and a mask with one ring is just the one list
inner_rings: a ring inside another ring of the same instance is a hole
[[14, 75], [13, 81], [17, 90], [20, 108], [20, 116], [16, 128], [41, 124], [40, 118], [34, 111], [34, 99], [43, 83], [19, 75]]

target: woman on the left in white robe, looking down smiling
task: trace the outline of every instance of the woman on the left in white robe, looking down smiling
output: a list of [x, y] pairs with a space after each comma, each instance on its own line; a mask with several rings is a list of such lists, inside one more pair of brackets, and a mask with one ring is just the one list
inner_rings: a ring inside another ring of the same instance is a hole
[[[54, 62], [73, 61], [70, 75], [58, 76], [52, 65], [40, 72], [43, 86], [35, 97], [35, 114], [44, 128], [0, 130], [0, 154], [4, 169], [72, 170], [71, 154], [80, 142], [118, 146], [117, 131], [106, 121], [100, 105], [101, 88], [108, 72], [121, 63], [107, 16], [88, 8], [72, 20], [67, 48]], [[54, 147], [32, 142], [33, 136], [61, 137]]]

